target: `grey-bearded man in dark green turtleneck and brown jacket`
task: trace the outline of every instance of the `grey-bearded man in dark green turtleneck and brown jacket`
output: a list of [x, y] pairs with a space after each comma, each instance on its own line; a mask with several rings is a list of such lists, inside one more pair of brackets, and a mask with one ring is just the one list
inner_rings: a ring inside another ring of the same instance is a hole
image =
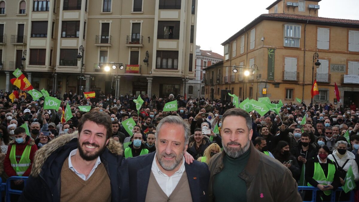
[[221, 134], [224, 150], [209, 162], [209, 201], [302, 201], [290, 170], [253, 146], [246, 111], [227, 110]]

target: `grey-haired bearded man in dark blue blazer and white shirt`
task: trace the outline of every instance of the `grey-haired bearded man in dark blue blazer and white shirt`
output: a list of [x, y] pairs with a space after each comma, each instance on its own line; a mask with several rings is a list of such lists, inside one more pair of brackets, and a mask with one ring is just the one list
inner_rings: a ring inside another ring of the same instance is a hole
[[208, 166], [183, 157], [190, 125], [167, 116], [156, 131], [156, 152], [127, 159], [131, 201], [207, 201]]

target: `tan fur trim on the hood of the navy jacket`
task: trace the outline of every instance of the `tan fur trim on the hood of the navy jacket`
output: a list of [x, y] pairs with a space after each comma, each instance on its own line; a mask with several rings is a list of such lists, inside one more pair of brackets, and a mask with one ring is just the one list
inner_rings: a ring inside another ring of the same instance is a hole
[[[45, 146], [41, 147], [41, 149], [35, 153], [34, 162], [32, 164], [31, 175], [37, 177], [41, 173], [41, 169], [45, 164], [47, 158], [53, 152], [55, 152], [60, 147], [65, 146], [65, 144], [69, 143], [73, 139], [77, 139], [77, 138], [78, 138], [78, 131], [75, 131], [72, 134], [62, 135], [59, 138], [53, 139]], [[106, 147], [109, 150], [109, 152], [115, 155], [123, 156], [122, 143], [119, 143], [110, 138]]]

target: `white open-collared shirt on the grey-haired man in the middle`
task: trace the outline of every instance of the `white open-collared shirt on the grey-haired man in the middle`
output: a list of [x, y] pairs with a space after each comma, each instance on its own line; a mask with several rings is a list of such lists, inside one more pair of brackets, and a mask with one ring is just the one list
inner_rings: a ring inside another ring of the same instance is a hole
[[154, 157], [154, 160], [152, 162], [152, 168], [151, 171], [153, 175], [155, 176], [155, 179], [163, 192], [169, 197], [173, 190], [176, 188], [178, 182], [180, 182], [180, 179], [182, 177], [183, 172], [185, 172], [185, 157], [182, 159], [182, 165], [180, 169], [177, 170], [176, 173], [174, 173], [171, 177], [168, 175], [162, 173], [162, 171], [157, 166], [157, 159], [156, 155]]

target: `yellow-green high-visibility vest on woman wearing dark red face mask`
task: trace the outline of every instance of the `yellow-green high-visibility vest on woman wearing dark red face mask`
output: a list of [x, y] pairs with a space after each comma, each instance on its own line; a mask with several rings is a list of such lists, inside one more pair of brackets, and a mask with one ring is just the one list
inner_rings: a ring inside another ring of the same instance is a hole
[[[314, 163], [314, 175], [313, 179], [316, 180], [319, 184], [330, 185], [334, 180], [335, 166], [334, 164], [328, 164], [328, 175], [325, 178], [324, 171], [318, 162]], [[308, 182], [308, 186], [312, 186]], [[329, 196], [332, 193], [331, 190], [324, 191], [324, 194]]]

